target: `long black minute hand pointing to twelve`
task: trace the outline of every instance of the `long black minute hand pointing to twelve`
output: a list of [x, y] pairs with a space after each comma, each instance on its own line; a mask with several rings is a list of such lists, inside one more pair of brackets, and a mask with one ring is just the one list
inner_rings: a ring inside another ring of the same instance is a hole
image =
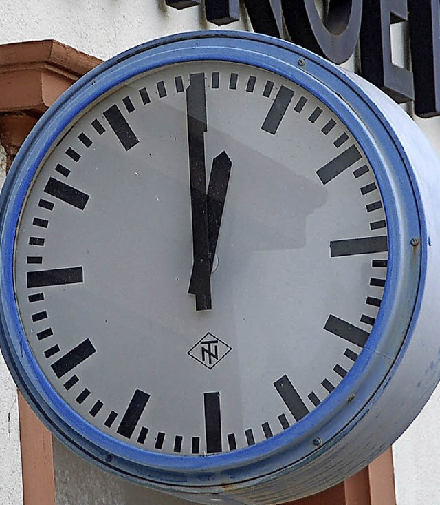
[[188, 155], [192, 216], [192, 285], [196, 310], [211, 309], [211, 268], [209, 260], [208, 209], [206, 196], [205, 132], [206, 89], [205, 74], [190, 74], [186, 89], [186, 118], [188, 121]]

